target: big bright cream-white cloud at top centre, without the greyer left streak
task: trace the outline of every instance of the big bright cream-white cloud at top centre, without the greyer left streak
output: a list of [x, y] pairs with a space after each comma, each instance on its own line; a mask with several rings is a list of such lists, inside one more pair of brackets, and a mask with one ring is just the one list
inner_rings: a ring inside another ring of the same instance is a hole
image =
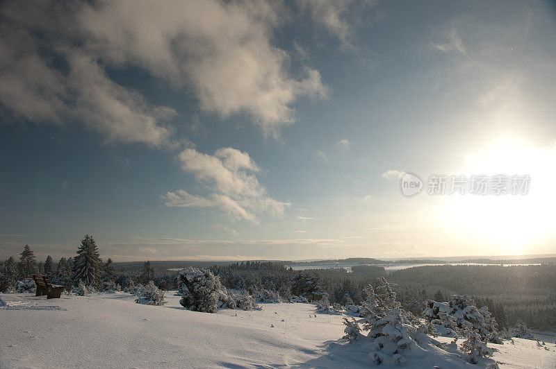
[[[133, 8], [133, 17], [129, 9]], [[270, 135], [293, 122], [298, 96], [325, 97], [320, 74], [293, 78], [288, 55], [270, 44], [285, 12], [263, 1], [115, 1], [79, 14], [90, 47], [116, 65], [133, 63], [181, 87], [222, 117], [246, 112]]]

